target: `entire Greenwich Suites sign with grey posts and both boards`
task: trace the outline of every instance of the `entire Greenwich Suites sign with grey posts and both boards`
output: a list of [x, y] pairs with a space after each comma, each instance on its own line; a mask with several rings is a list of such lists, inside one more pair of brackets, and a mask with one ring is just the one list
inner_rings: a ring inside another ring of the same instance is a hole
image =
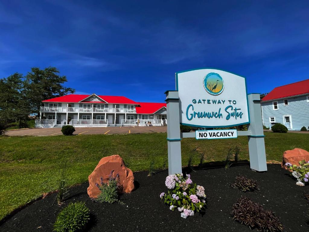
[[[224, 139], [247, 135], [250, 167], [266, 171], [266, 154], [259, 94], [247, 94], [244, 77], [219, 69], [176, 73], [176, 91], [167, 91], [169, 174], [181, 173], [181, 139]], [[180, 124], [201, 128], [180, 133]], [[218, 130], [249, 124], [248, 131]]]

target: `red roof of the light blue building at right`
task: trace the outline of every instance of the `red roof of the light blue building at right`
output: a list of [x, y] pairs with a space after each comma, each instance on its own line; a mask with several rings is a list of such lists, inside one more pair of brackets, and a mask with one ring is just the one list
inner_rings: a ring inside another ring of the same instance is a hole
[[263, 97], [262, 101], [270, 101], [306, 93], [309, 93], [309, 79], [276, 87], [270, 91], [269, 94]]

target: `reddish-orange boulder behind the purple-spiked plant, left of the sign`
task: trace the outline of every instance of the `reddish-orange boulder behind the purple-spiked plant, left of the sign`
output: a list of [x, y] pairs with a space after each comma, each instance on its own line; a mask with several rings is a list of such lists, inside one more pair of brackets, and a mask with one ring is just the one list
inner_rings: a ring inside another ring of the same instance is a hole
[[119, 155], [113, 155], [102, 158], [95, 170], [89, 175], [89, 187], [87, 192], [89, 197], [97, 198], [100, 190], [95, 186], [101, 183], [101, 177], [104, 183], [108, 183], [108, 175], [112, 172], [112, 176], [119, 174], [119, 183], [123, 193], [129, 193], [134, 190], [133, 172], [125, 166], [125, 162]]

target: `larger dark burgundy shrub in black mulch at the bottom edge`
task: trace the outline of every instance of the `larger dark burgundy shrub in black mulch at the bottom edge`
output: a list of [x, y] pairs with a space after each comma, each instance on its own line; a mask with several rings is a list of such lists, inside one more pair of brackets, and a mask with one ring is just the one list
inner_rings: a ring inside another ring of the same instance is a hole
[[248, 226], [250, 229], [256, 227], [265, 232], [283, 231], [279, 218], [273, 212], [264, 210], [260, 204], [254, 203], [248, 197], [241, 197], [233, 204], [231, 215], [235, 221]]

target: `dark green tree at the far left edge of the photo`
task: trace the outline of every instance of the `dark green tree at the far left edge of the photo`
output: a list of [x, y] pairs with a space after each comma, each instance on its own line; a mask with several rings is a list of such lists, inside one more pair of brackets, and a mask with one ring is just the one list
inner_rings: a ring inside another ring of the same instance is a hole
[[0, 118], [6, 124], [17, 120], [19, 128], [31, 113], [30, 102], [25, 95], [23, 75], [15, 73], [0, 79]]

